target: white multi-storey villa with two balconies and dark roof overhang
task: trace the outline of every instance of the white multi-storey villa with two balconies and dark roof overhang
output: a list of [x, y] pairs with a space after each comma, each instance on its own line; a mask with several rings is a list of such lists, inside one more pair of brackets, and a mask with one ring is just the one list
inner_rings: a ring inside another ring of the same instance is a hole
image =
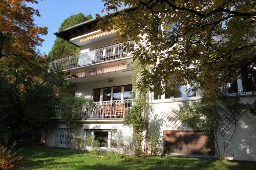
[[[114, 30], [103, 32], [95, 27], [96, 23], [97, 19], [91, 19], [55, 33], [79, 46], [80, 54], [52, 61], [49, 70], [71, 71], [77, 75], [68, 80], [75, 95], [94, 101], [93, 107], [81, 115], [78, 136], [104, 137], [107, 141], [102, 141], [102, 149], [110, 149], [115, 133], [122, 132], [127, 139], [133, 134], [130, 127], [123, 125], [124, 117], [133, 106], [133, 56], [123, 49], [124, 44], [116, 41]], [[245, 103], [253, 103], [255, 95], [243, 89], [243, 83], [240, 79], [236, 83], [236, 89], [245, 93], [238, 97]], [[161, 96], [148, 94], [154, 109], [149, 120], [150, 132], [165, 139], [165, 155], [212, 157], [214, 152], [206, 148], [207, 137], [198, 129], [186, 129], [177, 118], [184, 101], [200, 99], [200, 90], [190, 93], [186, 92], [187, 88], [189, 86], [180, 87], [181, 96], [168, 92]], [[61, 111], [58, 108], [57, 113]], [[232, 131], [233, 124], [229, 125], [227, 131]], [[65, 123], [56, 116], [49, 124], [46, 143], [49, 147], [67, 147], [68, 135]], [[226, 140], [230, 135], [227, 133]], [[218, 144], [223, 145], [223, 140]], [[244, 114], [239, 119], [237, 130], [225, 149], [225, 158], [256, 161], [256, 116]]]

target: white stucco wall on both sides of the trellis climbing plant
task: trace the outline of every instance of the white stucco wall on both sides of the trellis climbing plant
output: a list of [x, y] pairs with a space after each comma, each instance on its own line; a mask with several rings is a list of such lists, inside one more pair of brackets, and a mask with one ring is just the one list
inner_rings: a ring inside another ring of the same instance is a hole
[[[240, 98], [243, 103], [253, 103], [254, 96]], [[189, 102], [192, 102], [189, 101]], [[178, 119], [177, 110], [183, 105], [182, 101], [168, 102], [168, 100], [153, 101], [154, 113], [150, 116], [150, 133], [159, 134], [163, 137], [164, 130], [191, 130], [182, 126]], [[225, 135], [225, 144], [229, 141], [234, 126]], [[222, 137], [218, 140], [220, 152], [223, 155], [224, 141]], [[237, 130], [233, 135], [230, 144], [225, 149], [224, 157], [230, 160], [256, 161], [256, 116], [249, 112], [244, 114], [238, 121]]]

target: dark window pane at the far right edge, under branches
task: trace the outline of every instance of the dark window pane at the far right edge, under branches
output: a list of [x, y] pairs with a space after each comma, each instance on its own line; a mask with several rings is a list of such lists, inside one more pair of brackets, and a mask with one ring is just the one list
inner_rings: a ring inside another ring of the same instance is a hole
[[253, 65], [249, 66], [247, 70], [242, 72], [242, 84], [243, 84], [243, 91], [255, 91], [255, 76], [256, 76], [256, 69]]

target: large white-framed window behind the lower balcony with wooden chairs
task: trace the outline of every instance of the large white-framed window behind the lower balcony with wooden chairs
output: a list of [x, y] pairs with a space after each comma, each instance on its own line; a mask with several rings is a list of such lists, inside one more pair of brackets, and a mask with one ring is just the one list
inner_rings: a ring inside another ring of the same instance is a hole
[[108, 87], [93, 90], [94, 102], [117, 101], [127, 99], [132, 99], [132, 85]]

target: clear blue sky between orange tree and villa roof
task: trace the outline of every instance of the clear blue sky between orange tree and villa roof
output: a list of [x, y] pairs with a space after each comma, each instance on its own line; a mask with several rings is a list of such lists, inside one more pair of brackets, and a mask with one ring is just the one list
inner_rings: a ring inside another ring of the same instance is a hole
[[83, 13], [84, 15], [100, 14], [104, 8], [101, 0], [42, 0], [38, 4], [30, 5], [34, 9], [38, 9], [41, 17], [34, 17], [36, 25], [39, 27], [48, 27], [48, 34], [41, 36], [45, 41], [42, 46], [38, 47], [41, 54], [51, 51], [56, 36], [53, 34], [58, 32], [58, 28], [62, 21], [73, 14]]

